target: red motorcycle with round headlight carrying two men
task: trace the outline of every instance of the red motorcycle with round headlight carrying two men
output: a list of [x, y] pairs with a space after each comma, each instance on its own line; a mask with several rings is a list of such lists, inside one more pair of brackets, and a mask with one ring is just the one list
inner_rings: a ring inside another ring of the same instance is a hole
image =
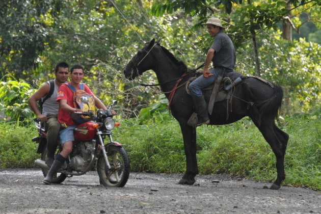
[[[53, 177], [52, 183], [61, 183], [66, 177], [83, 175], [88, 171], [97, 170], [100, 184], [104, 186], [122, 187], [126, 184], [130, 171], [129, 158], [122, 145], [112, 138], [112, 130], [119, 125], [119, 123], [115, 123], [110, 111], [115, 103], [116, 100], [112, 102], [109, 110], [98, 110], [97, 115], [77, 113], [90, 116], [92, 120], [79, 124], [74, 129], [75, 141], [72, 152], [67, 158], [67, 165], [58, 171]], [[46, 176], [50, 169], [45, 164], [47, 155], [46, 130], [37, 119], [35, 119], [35, 123], [39, 136], [33, 138], [32, 141], [39, 144], [37, 153], [41, 153], [41, 159], [37, 159], [35, 165], [39, 166], [43, 175]], [[101, 149], [98, 149], [99, 147]], [[62, 148], [59, 147], [57, 154], [61, 150]]]

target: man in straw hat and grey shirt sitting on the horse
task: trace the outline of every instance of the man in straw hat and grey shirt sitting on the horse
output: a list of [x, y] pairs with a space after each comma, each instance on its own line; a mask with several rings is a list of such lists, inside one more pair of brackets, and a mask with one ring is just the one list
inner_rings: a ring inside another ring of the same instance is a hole
[[[207, 52], [203, 75], [189, 85], [198, 116], [197, 126], [210, 122], [202, 89], [213, 84], [217, 77], [224, 72], [233, 71], [235, 66], [234, 46], [231, 39], [222, 31], [224, 27], [221, 24], [221, 20], [209, 18], [203, 24], [207, 26], [207, 32], [211, 37], [215, 37], [215, 40]], [[213, 62], [214, 68], [208, 70], [210, 62]]]

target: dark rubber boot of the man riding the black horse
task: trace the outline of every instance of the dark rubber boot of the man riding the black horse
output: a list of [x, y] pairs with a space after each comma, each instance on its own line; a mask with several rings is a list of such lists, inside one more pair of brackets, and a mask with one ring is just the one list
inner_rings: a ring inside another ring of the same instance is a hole
[[204, 99], [204, 96], [194, 96], [192, 95], [192, 99], [194, 102], [194, 105], [196, 107], [196, 113], [197, 113], [197, 126], [208, 124], [210, 122], [207, 114], [207, 104]]

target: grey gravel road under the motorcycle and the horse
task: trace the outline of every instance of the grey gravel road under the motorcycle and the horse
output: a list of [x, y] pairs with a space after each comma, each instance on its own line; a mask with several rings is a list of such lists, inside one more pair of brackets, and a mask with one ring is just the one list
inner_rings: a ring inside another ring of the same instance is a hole
[[271, 183], [197, 176], [131, 173], [124, 188], [103, 188], [96, 172], [44, 185], [38, 169], [0, 170], [0, 213], [321, 213], [320, 191]]

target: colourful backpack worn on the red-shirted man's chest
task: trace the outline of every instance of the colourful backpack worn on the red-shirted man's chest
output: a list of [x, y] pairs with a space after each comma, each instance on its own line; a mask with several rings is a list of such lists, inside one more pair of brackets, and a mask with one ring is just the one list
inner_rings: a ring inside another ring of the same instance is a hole
[[[73, 91], [73, 106], [74, 108], [81, 109], [83, 112], [91, 112], [94, 115], [96, 114], [95, 108], [95, 97], [91, 94], [88, 94], [85, 91], [85, 86], [83, 83], [79, 84], [78, 90], [76, 90], [73, 86], [68, 83], [65, 83], [70, 90]], [[90, 116], [78, 115], [75, 113], [70, 114], [71, 119], [76, 124], [81, 124], [92, 120]]]

